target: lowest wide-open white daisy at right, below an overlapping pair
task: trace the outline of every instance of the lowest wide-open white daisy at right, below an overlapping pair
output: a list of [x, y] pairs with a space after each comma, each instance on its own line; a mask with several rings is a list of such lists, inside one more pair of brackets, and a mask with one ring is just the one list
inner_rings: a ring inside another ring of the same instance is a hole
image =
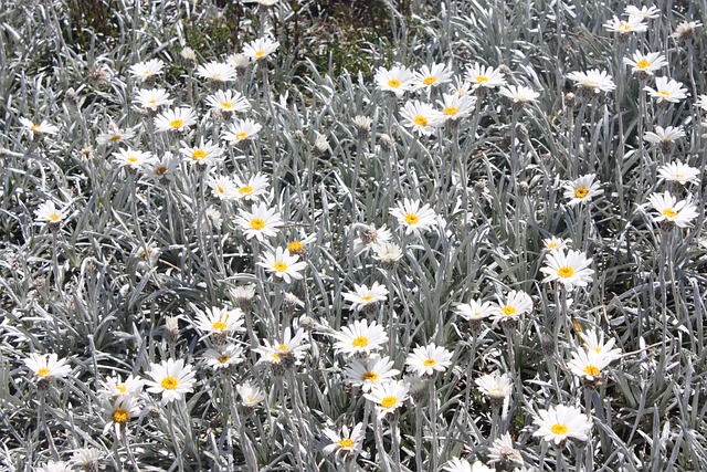
[[589, 431], [592, 429], [589, 418], [579, 408], [564, 405], [538, 411], [532, 422], [539, 427], [532, 436], [558, 445], [563, 444], [568, 439], [588, 441]]

